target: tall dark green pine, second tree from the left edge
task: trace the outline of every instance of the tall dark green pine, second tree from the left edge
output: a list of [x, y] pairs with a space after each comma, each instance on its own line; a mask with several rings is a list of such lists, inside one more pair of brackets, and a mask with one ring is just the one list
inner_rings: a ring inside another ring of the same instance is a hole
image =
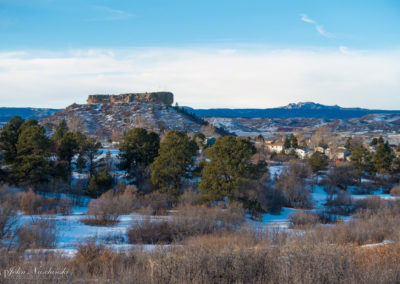
[[37, 122], [22, 126], [18, 138], [17, 157], [12, 164], [13, 178], [22, 184], [37, 185], [49, 180], [51, 143], [45, 129]]

